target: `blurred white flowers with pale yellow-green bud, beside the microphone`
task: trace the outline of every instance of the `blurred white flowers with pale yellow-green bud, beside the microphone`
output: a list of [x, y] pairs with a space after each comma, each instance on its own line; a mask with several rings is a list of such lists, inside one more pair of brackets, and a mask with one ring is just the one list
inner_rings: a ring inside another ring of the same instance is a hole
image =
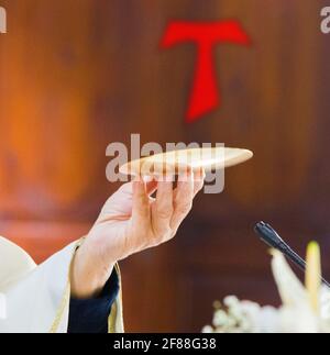
[[330, 289], [321, 285], [320, 248], [312, 242], [307, 248], [305, 286], [285, 257], [272, 251], [272, 269], [282, 307], [261, 307], [237, 297], [215, 303], [212, 325], [204, 333], [330, 333]]

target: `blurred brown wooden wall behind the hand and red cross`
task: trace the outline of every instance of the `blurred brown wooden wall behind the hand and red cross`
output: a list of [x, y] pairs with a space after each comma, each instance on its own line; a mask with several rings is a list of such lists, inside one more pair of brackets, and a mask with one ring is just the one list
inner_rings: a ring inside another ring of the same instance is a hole
[[[122, 265], [128, 331], [200, 331], [228, 293], [277, 304], [263, 219], [330, 277], [330, 36], [306, 0], [1, 0], [0, 234], [37, 262], [88, 232], [118, 185], [106, 147], [224, 142], [255, 157], [200, 195], [177, 238]], [[193, 45], [160, 49], [170, 19], [239, 19], [253, 46], [215, 53], [223, 103], [187, 125]], [[1, 260], [0, 260], [1, 267]]]

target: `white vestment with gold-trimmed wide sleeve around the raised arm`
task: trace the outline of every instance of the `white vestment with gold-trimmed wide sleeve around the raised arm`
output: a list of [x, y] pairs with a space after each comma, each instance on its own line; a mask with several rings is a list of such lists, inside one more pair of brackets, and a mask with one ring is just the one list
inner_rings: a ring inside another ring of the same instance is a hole
[[[79, 244], [36, 266], [22, 248], [0, 236], [0, 333], [67, 332], [70, 264]], [[109, 315], [109, 332], [123, 332], [121, 291]]]

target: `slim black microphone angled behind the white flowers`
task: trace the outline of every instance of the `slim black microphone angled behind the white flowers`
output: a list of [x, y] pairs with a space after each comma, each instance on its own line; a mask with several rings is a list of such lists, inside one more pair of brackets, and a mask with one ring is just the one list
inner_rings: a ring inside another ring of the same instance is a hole
[[[272, 248], [279, 251], [289, 260], [298, 266], [302, 271], [306, 271], [306, 262], [293, 251], [293, 248], [284, 242], [284, 240], [278, 235], [278, 233], [267, 223], [258, 222], [256, 223], [254, 231], [260, 235], [261, 240], [266, 243]], [[330, 288], [330, 284], [322, 277], [322, 282]]]

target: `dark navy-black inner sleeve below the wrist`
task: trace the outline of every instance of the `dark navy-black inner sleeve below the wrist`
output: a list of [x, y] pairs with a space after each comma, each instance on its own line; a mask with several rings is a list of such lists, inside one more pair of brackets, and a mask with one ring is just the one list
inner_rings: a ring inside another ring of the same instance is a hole
[[119, 278], [113, 273], [101, 295], [95, 299], [70, 300], [68, 333], [108, 333], [108, 318], [119, 293]]

